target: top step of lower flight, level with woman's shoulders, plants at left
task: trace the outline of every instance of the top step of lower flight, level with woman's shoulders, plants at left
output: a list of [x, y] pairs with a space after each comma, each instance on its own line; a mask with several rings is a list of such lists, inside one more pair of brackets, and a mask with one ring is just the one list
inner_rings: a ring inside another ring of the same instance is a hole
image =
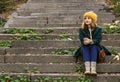
[[[81, 25], [80, 25], [81, 26]], [[79, 33], [79, 29], [81, 27], [43, 27], [43, 28], [24, 28], [24, 27], [20, 27], [20, 28], [3, 28], [3, 29], [0, 29], [0, 34], [1, 35], [4, 35], [4, 34], [7, 34], [7, 35], [14, 35], [15, 33], [11, 33], [10, 31], [32, 31], [34, 33], [36, 33], [36, 35], [38, 34], [41, 34], [41, 35], [60, 35], [60, 34], [64, 34], [64, 35], [78, 35]], [[100, 28], [102, 28], [104, 30], [104, 27], [101, 27], [101, 26], [98, 26]], [[8, 31], [8, 32], [6, 32]], [[18, 34], [21, 34], [21, 33], [16, 33], [16, 35]], [[24, 34], [24, 33], [22, 33]], [[30, 34], [30, 33], [26, 33], [26, 34]], [[32, 35], [32, 34], [31, 34]], [[33, 34], [34, 35], [34, 34]], [[107, 35], [109, 37], [111, 36], [119, 36], [118, 33], [114, 33], [114, 34], [104, 34], [103, 35]]]

